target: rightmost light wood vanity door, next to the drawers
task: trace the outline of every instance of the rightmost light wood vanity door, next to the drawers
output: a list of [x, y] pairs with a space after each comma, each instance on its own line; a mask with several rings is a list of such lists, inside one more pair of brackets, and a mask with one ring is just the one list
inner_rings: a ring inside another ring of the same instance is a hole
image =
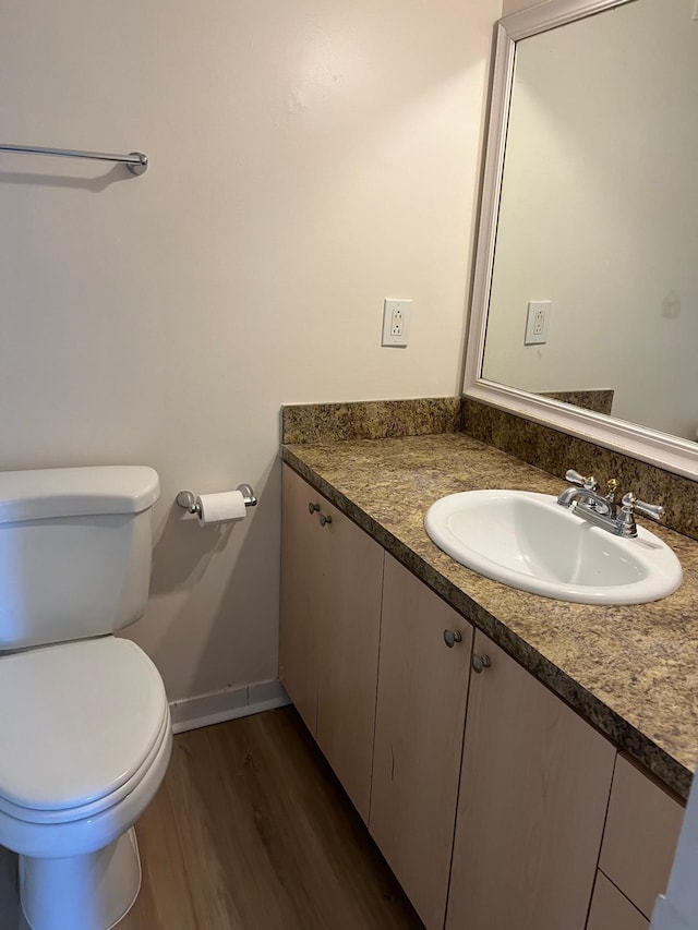
[[480, 631], [447, 930], [583, 930], [615, 750]]

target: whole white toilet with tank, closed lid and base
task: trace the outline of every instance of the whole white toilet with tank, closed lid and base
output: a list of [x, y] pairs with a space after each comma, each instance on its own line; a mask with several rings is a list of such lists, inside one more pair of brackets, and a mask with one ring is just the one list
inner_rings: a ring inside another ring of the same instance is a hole
[[167, 697], [115, 632], [142, 616], [157, 472], [0, 472], [0, 845], [33, 930], [108, 930], [141, 885], [133, 824], [165, 776]]

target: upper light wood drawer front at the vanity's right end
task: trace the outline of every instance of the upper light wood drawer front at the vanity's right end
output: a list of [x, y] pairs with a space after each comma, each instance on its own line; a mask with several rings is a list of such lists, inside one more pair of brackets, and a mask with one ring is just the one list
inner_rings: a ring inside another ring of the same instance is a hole
[[673, 795], [618, 756], [599, 868], [647, 918], [666, 890], [683, 817]]

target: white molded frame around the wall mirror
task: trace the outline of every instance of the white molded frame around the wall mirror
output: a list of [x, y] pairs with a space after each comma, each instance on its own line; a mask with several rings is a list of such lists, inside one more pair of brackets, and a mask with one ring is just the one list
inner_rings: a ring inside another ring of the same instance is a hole
[[696, 481], [696, 443], [482, 377], [516, 44], [538, 33], [630, 2], [634, 0], [549, 0], [540, 7], [505, 16], [496, 24], [490, 124], [486, 133], [482, 202], [466, 345], [464, 394], [490, 407], [506, 410]]

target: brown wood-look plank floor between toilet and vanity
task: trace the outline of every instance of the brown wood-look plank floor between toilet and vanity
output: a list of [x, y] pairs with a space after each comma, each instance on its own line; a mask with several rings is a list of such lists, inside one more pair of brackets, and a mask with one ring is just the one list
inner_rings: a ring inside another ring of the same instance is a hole
[[[136, 834], [118, 930], [423, 930], [292, 708], [176, 736]], [[0, 927], [19, 930], [0, 872]]]

